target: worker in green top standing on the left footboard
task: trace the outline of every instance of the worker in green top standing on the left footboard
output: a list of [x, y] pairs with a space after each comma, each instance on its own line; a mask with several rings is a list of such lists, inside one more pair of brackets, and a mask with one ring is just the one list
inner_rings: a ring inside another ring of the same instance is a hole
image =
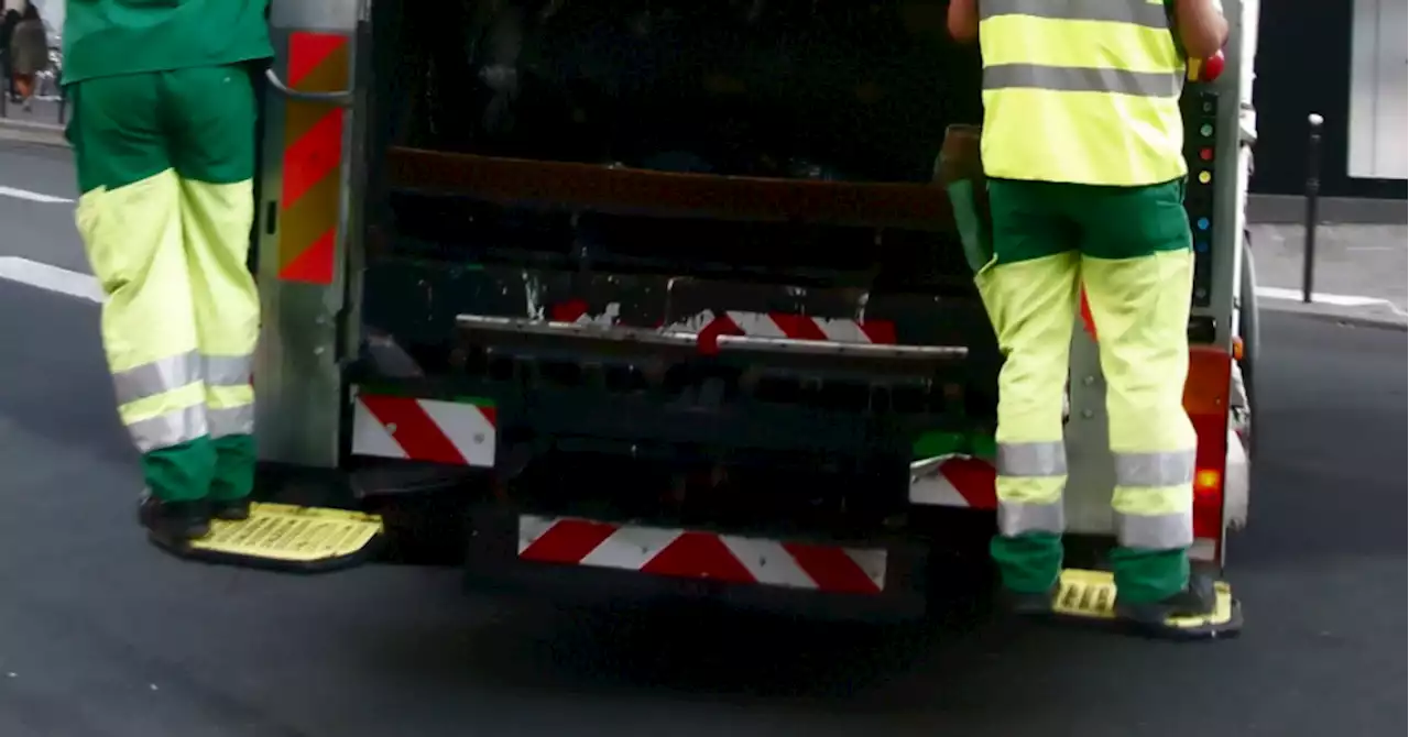
[[268, 0], [69, 0], [63, 85], [77, 227], [103, 303], [142, 524], [170, 543], [249, 514], [259, 297], [251, 62]]

